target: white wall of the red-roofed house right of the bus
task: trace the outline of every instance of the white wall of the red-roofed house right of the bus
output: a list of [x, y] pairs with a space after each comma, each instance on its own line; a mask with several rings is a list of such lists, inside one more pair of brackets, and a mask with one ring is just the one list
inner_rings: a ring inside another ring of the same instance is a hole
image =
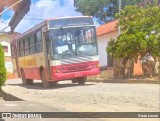
[[118, 36], [118, 31], [97, 36], [100, 67], [108, 66], [106, 47], [108, 46], [108, 42], [111, 39], [117, 38], [117, 36]]

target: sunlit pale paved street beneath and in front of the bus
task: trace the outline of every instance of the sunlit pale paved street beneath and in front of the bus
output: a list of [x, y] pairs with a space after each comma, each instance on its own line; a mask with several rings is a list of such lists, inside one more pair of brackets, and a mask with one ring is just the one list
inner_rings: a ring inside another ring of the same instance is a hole
[[3, 89], [24, 101], [3, 101], [0, 105], [4, 108], [0, 111], [158, 112], [159, 86], [93, 82], [79, 86], [64, 81], [45, 89], [38, 81], [34, 85], [22, 85], [20, 79], [9, 80]]

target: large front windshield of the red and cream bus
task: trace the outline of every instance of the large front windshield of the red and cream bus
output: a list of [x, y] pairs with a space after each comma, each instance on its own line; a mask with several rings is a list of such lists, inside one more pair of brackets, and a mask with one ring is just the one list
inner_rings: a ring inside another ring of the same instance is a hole
[[73, 27], [50, 30], [51, 57], [64, 59], [98, 54], [95, 27]]

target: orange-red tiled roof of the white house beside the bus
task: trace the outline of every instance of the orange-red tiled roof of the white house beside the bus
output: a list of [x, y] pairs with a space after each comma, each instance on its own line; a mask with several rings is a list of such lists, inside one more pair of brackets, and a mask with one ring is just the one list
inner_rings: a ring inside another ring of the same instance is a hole
[[97, 36], [101, 36], [101, 35], [104, 35], [104, 34], [108, 34], [110, 32], [117, 31], [118, 30], [116, 28], [117, 24], [118, 24], [118, 20], [115, 20], [115, 21], [109, 22], [107, 24], [104, 24], [102, 26], [99, 26], [97, 28]]

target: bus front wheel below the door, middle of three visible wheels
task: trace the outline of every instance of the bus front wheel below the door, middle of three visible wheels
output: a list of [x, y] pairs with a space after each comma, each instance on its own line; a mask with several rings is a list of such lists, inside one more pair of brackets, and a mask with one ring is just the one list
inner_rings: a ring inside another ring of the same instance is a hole
[[47, 80], [47, 77], [46, 77], [44, 70], [42, 70], [42, 72], [41, 72], [41, 79], [42, 79], [42, 84], [44, 87], [46, 87], [46, 88], [52, 87], [52, 82]]

